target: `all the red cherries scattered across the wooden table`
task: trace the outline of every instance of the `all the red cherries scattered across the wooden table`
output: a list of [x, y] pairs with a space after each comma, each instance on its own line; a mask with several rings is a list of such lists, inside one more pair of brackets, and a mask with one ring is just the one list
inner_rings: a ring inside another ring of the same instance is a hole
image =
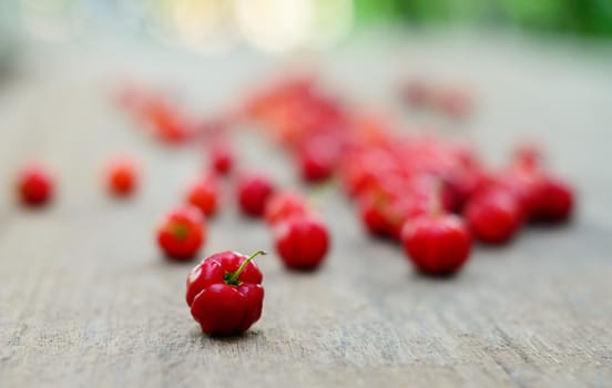
[[[466, 95], [426, 93], [417, 86], [406, 90], [411, 103], [439, 106], [453, 116], [467, 114]], [[119, 101], [163, 142], [208, 145], [208, 169], [186, 187], [183, 204], [157, 228], [159, 246], [169, 259], [190, 261], [205, 244], [207, 222], [220, 207], [221, 180], [235, 165], [227, 132], [245, 120], [263, 124], [257, 127], [288, 152], [305, 182], [339, 182], [365, 228], [400, 242], [426, 275], [460, 269], [472, 239], [500, 245], [528, 223], [565, 222], [574, 203], [572, 188], [542, 167], [534, 147], [521, 147], [510, 166], [491, 171], [466, 144], [398, 135], [387, 123], [344, 108], [312, 79], [276, 83], [249, 95], [239, 111], [208, 122], [193, 120], [142, 86], [125, 88]], [[139, 174], [135, 161], [115, 159], [105, 167], [105, 182], [111, 193], [125, 197], [137, 188]], [[288, 269], [319, 267], [329, 234], [304, 195], [278, 188], [259, 173], [239, 172], [232, 182], [242, 213], [265, 221]], [[39, 206], [52, 197], [53, 181], [43, 167], [29, 166], [19, 175], [18, 188], [23, 203]], [[259, 319], [263, 276], [253, 262], [259, 254], [265, 252], [249, 257], [217, 253], [191, 270], [186, 302], [204, 333], [237, 334]]]

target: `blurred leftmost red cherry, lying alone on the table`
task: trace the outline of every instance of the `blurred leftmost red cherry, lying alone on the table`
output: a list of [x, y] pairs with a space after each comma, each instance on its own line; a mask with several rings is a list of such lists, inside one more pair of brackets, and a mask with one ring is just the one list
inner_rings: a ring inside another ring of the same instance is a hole
[[29, 206], [41, 206], [53, 196], [53, 178], [44, 167], [30, 165], [19, 172], [17, 190], [21, 203]]

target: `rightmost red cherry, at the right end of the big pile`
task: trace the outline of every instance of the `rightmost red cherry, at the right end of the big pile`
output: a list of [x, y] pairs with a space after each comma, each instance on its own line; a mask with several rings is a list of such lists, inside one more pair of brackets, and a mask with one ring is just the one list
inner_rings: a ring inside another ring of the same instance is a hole
[[561, 223], [570, 218], [574, 193], [567, 183], [554, 177], [543, 177], [538, 190], [538, 201], [532, 221]]

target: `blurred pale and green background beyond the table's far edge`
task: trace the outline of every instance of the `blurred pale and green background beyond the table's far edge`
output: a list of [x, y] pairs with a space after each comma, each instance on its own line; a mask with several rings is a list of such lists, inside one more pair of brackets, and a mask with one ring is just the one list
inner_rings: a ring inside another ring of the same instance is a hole
[[612, 0], [0, 0], [0, 58], [18, 40], [133, 39], [205, 53], [329, 49], [380, 28], [606, 40]]

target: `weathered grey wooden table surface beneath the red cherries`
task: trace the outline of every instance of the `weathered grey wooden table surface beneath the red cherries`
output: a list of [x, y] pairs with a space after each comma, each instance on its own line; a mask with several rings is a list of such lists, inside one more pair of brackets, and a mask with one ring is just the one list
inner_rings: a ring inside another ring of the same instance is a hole
[[[170, 85], [201, 112], [280, 65], [239, 51], [223, 59], [132, 48], [33, 48], [0, 89], [1, 387], [593, 386], [612, 384], [612, 58], [593, 48], [504, 38], [364, 39], [325, 55], [340, 94], [472, 139], [500, 163], [512, 141], [541, 139], [551, 166], [580, 190], [574, 222], [528, 228], [510, 246], [478, 247], [452, 279], [415, 274], [400, 249], [368, 238], [337, 193], [322, 202], [333, 251], [316, 274], [274, 255], [264, 316], [238, 338], [200, 333], [185, 306], [192, 264], [159, 254], [153, 229], [202, 166], [197, 147], [167, 149], [112, 105], [116, 75]], [[142, 52], [141, 52], [142, 51]], [[473, 85], [473, 118], [452, 124], [399, 113], [402, 73]], [[241, 163], [295, 185], [286, 156], [248, 131]], [[101, 166], [142, 160], [145, 181], [109, 198]], [[11, 191], [31, 159], [57, 173], [57, 202], [20, 208]], [[205, 252], [269, 248], [258, 222], [226, 206]]]

